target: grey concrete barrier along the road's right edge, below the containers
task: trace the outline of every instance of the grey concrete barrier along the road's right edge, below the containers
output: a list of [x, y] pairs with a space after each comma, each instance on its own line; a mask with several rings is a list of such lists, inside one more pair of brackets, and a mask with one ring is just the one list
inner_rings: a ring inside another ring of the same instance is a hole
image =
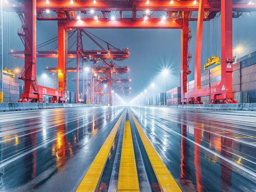
[[177, 105], [147, 105], [148, 107], [168, 107], [180, 109], [205, 109], [205, 110], [249, 110], [256, 111], [256, 103], [233, 104], [177, 104]]

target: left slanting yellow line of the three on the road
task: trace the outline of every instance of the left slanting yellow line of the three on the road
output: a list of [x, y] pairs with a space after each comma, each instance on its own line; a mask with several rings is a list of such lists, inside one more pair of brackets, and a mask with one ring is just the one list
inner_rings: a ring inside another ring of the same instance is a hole
[[122, 116], [124, 115], [124, 113], [125, 113], [125, 110], [122, 113], [122, 115], [119, 117], [113, 129], [111, 130], [110, 134], [108, 135], [108, 138], [102, 145], [102, 148], [99, 150], [96, 158], [94, 159], [93, 163], [88, 169], [86, 175], [84, 176], [83, 180], [81, 181], [78, 188], [76, 189], [76, 192], [95, 192], [96, 191], [99, 185], [99, 180], [101, 178], [103, 169], [105, 167], [105, 164], [108, 158], [108, 154], [111, 150], [113, 140], [116, 136], [117, 129], [119, 127], [119, 124], [122, 120]]

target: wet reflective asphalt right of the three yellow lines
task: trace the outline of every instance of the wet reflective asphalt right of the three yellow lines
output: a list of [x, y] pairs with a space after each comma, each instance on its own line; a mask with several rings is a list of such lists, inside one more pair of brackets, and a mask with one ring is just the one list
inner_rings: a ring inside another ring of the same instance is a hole
[[256, 113], [131, 107], [184, 192], [256, 191]]

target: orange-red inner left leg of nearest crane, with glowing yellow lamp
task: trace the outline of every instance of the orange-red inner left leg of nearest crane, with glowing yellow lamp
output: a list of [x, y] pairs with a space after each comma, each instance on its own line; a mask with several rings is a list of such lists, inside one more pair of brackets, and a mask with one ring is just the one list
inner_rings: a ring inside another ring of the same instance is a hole
[[[58, 90], [64, 94], [65, 90], [65, 28], [58, 21]], [[65, 95], [64, 95], [65, 96]], [[64, 97], [62, 96], [62, 97]]]

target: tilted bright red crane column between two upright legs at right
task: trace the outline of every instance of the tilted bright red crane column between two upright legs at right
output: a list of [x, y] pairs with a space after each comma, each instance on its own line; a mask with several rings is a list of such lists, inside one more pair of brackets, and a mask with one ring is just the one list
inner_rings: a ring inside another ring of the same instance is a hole
[[195, 44], [195, 86], [201, 89], [201, 52], [202, 52], [202, 36], [203, 36], [203, 22], [204, 22], [204, 4], [205, 0], [199, 1], [198, 7], [198, 23], [196, 30], [196, 44]]

